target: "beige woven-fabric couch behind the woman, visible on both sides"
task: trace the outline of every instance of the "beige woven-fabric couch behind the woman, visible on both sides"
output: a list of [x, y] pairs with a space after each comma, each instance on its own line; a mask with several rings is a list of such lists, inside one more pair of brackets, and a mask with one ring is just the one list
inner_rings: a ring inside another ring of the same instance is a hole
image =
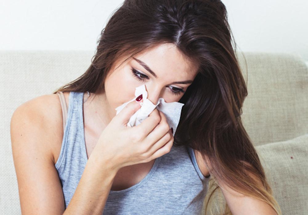
[[[0, 214], [20, 214], [10, 144], [13, 111], [87, 69], [94, 51], [1, 51]], [[242, 119], [283, 214], [308, 214], [308, 68], [298, 55], [244, 53], [248, 96]]]

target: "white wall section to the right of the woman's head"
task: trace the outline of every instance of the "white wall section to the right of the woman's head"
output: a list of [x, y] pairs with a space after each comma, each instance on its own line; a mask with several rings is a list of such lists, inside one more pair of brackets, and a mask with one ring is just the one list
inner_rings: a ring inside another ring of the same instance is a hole
[[296, 53], [308, 63], [307, 0], [222, 0], [242, 51]]

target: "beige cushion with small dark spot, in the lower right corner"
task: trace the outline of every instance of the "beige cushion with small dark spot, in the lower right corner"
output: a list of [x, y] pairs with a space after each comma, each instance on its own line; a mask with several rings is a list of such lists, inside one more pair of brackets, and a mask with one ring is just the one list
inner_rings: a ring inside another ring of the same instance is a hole
[[308, 211], [308, 134], [257, 146], [265, 174], [282, 214]]

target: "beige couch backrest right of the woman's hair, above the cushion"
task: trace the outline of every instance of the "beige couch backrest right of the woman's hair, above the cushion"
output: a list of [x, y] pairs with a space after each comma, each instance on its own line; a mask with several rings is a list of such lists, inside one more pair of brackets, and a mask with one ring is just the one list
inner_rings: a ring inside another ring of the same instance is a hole
[[248, 76], [242, 121], [254, 145], [308, 133], [308, 68], [302, 57], [245, 52], [246, 69], [238, 56], [245, 80]]

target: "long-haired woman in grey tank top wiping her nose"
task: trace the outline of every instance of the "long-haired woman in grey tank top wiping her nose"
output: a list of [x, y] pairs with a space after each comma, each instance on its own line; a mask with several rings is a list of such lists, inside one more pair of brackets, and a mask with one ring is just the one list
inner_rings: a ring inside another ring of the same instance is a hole
[[[22, 213], [197, 214], [205, 199], [206, 214], [281, 214], [241, 123], [232, 41], [221, 1], [124, 1], [87, 71], [13, 114]], [[126, 126], [140, 96], [116, 115], [142, 84], [153, 104], [185, 104], [174, 137], [157, 109]]]

